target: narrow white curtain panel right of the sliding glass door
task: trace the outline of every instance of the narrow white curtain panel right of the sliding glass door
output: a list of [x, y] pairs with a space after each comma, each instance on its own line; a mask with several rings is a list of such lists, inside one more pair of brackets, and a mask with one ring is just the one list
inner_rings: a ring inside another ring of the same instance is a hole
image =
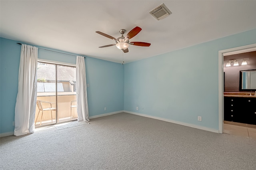
[[76, 103], [77, 103], [77, 121], [88, 122], [88, 102], [86, 89], [86, 72], [84, 57], [76, 56]]

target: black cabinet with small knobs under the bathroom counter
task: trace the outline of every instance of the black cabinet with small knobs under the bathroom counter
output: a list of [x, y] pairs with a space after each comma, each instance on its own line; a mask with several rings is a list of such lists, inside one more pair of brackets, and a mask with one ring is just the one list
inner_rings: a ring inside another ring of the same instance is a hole
[[256, 125], [256, 98], [224, 97], [224, 121]]

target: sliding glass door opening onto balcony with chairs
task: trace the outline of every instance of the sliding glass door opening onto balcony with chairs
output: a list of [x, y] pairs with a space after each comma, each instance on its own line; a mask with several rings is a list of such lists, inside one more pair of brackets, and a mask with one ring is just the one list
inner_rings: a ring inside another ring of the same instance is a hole
[[77, 119], [76, 67], [38, 62], [35, 126]]

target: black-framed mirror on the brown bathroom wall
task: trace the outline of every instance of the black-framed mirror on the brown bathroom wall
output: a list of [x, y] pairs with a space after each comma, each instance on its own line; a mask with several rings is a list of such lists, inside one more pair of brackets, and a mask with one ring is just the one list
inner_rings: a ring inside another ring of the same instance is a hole
[[239, 79], [240, 91], [256, 91], [256, 69], [241, 70]]

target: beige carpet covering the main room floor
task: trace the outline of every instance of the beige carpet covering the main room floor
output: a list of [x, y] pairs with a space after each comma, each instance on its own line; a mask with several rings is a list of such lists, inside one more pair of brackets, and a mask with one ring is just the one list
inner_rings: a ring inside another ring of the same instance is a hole
[[120, 113], [0, 139], [1, 170], [255, 170], [256, 140]]

